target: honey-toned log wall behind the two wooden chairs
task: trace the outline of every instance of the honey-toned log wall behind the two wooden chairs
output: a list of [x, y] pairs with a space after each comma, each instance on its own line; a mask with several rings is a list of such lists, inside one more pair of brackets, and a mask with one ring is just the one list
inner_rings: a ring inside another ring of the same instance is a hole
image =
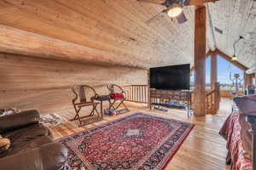
[[107, 83], [147, 84], [147, 74], [147, 70], [136, 68], [0, 54], [0, 108], [61, 112], [73, 108], [74, 85], [87, 84], [98, 94], [108, 94]]

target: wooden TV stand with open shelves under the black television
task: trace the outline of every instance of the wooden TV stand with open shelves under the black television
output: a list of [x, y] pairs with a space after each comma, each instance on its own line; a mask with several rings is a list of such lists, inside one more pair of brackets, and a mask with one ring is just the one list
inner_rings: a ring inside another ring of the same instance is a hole
[[[172, 105], [175, 102], [177, 105]], [[191, 92], [189, 90], [150, 89], [150, 110], [153, 105], [177, 109], [187, 108], [187, 114], [191, 116]]]

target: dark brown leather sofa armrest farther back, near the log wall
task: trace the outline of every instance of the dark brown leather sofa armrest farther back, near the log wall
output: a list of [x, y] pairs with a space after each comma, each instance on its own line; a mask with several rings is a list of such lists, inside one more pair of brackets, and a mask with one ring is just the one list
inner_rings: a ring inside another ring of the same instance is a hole
[[21, 111], [20, 113], [0, 116], [0, 133], [6, 133], [9, 130], [15, 130], [20, 127], [26, 127], [39, 122], [38, 111]]

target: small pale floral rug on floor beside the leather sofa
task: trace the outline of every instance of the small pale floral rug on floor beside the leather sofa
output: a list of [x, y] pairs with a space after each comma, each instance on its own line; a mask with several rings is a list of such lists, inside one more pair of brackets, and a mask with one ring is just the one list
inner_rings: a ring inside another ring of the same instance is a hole
[[40, 123], [43, 123], [45, 127], [55, 127], [61, 123], [67, 122], [67, 120], [55, 113], [40, 116]]

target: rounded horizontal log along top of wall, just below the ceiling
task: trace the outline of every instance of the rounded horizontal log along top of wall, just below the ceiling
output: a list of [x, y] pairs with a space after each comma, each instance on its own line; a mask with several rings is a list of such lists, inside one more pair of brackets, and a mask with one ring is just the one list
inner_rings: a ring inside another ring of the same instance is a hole
[[139, 62], [126, 56], [3, 25], [0, 25], [0, 52], [25, 54], [46, 59], [90, 62], [98, 65], [121, 65], [137, 68], [149, 66], [145, 62]]

